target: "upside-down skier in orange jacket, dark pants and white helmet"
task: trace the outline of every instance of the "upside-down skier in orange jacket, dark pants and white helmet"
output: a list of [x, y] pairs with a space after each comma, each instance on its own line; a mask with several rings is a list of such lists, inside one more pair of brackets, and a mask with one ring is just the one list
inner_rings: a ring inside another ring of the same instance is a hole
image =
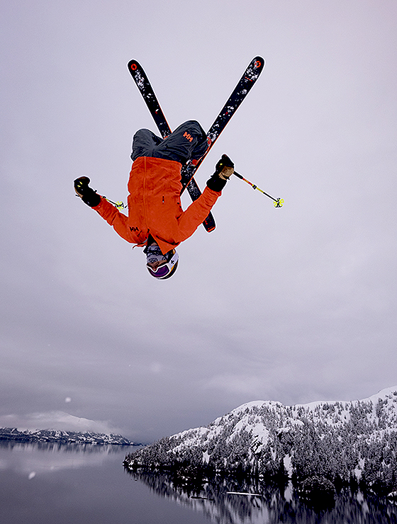
[[126, 241], [145, 246], [150, 275], [171, 277], [178, 266], [176, 247], [189, 238], [218, 200], [234, 164], [223, 155], [203, 193], [184, 211], [181, 207], [181, 167], [196, 164], [209, 149], [201, 125], [188, 120], [164, 139], [141, 129], [133, 137], [133, 167], [128, 181], [128, 217], [89, 187], [86, 176], [74, 181], [74, 190]]

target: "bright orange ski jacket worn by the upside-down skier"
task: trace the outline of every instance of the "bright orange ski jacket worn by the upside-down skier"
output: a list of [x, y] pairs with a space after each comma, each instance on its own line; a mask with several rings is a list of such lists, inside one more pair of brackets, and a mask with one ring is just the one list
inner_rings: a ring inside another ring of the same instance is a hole
[[179, 162], [140, 156], [128, 181], [128, 217], [104, 197], [94, 210], [126, 241], [143, 246], [151, 234], [166, 254], [196, 231], [221, 195], [206, 186], [184, 211], [181, 188]]

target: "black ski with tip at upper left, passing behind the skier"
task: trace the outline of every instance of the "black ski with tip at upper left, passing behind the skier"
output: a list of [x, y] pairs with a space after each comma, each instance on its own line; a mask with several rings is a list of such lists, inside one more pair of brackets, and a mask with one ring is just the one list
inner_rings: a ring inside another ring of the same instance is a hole
[[[128, 62], [128, 71], [130, 72], [131, 76], [133, 76], [135, 84], [138, 86], [138, 89], [146, 103], [147, 108], [150, 111], [150, 114], [152, 115], [153, 120], [155, 120], [155, 124], [157, 125], [157, 129], [160, 131], [160, 135], [162, 135], [163, 138], [171, 135], [171, 127], [169, 127], [167, 119], [162, 112], [160, 103], [157, 100], [157, 96], [155, 95], [155, 91], [152, 89], [152, 85], [147, 78], [145, 70], [136, 60], [130, 60], [130, 62]], [[201, 195], [201, 190], [198, 188], [198, 185], [193, 177], [190, 180], [187, 190], [191, 200], [193, 201], [197, 200], [197, 198]], [[211, 212], [206, 220], [204, 220], [203, 226], [208, 232], [211, 232], [216, 228], [215, 220], [213, 219]]]

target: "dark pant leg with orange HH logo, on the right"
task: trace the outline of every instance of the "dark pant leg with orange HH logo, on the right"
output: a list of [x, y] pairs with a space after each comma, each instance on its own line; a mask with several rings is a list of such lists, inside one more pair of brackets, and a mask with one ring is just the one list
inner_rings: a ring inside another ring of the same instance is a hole
[[196, 120], [188, 120], [164, 138], [155, 147], [152, 156], [186, 164], [189, 159], [200, 159], [207, 149], [206, 132]]

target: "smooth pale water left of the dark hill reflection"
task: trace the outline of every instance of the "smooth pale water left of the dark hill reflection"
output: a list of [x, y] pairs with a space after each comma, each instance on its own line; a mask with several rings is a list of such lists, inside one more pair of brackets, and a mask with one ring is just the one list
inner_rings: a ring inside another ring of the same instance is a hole
[[131, 482], [121, 446], [0, 448], [1, 524], [205, 524]]

